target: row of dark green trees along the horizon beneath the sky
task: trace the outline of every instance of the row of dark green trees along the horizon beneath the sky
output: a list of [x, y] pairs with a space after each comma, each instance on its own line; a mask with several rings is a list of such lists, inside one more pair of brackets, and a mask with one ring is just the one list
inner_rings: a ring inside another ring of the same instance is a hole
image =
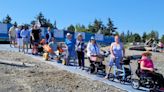
[[[25, 25], [34, 25], [36, 21], [39, 21], [42, 27], [51, 27], [57, 29], [56, 26], [56, 21], [52, 23], [50, 19], [47, 19], [44, 17], [43, 13], [40, 12], [36, 17], [34, 17], [34, 20], [31, 21], [30, 24], [25, 24]], [[12, 23], [12, 18], [7, 15], [5, 19], [0, 21], [0, 23], [4, 24], [14, 24], [17, 25], [17, 22], [15, 21]], [[157, 41], [162, 41], [164, 43], [164, 35], [162, 35], [161, 38], [159, 38], [159, 33], [158, 31], [152, 30], [150, 33], [143, 32], [143, 35], [140, 35], [138, 33], [134, 33], [132, 31], [127, 31], [118, 33], [117, 27], [115, 27], [113, 21], [108, 18], [107, 24], [104, 24], [101, 20], [95, 19], [93, 23], [89, 24], [88, 26], [85, 26], [83, 24], [76, 24], [76, 25], [69, 25], [65, 30], [71, 31], [71, 32], [88, 32], [88, 33], [98, 33], [98, 34], [103, 34], [105, 36], [111, 36], [113, 34], [119, 34], [121, 37], [121, 40], [124, 43], [127, 42], [146, 42], [146, 40], [150, 38], [154, 38]]]

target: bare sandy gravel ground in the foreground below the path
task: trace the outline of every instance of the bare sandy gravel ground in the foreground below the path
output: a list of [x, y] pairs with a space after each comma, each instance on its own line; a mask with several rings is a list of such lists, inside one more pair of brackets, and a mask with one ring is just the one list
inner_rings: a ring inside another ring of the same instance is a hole
[[[39, 62], [22, 53], [0, 51], [0, 92], [123, 92], [107, 84], [84, 78]], [[32, 64], [25, 67], [18, 62]]]

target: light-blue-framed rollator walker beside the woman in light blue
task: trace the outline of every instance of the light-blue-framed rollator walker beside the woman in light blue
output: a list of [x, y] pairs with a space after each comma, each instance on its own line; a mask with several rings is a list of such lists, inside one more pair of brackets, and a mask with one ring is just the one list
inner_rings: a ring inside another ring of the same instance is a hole
[[125, 82], [131, 83], [132, 72], [130, 66], [130, 58], [125, 57], [123, 61], [120, 62], [120, 64], [121, 64], [121, 69], [118, 69], [114, 63], [113, 65], [114, 73], [109, 73], [108, 79], [111, 81], [114, 81], [114, 79], [118, 79], [122, 84], [125, 84]]

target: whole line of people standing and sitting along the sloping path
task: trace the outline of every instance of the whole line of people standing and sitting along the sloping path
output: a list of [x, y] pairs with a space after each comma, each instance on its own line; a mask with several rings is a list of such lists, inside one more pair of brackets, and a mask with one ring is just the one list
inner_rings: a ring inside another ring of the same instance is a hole
[[[54, 57], [56, 56], [55, 51], [58, 50], [59, 45], [56, 42], [55, 37], [51, 32], [51, 28], [48, 28], [47, 30], [48, 32], [44, 37], [45, 39], [44, 44], [49, 45], [49, 47], [52, 49], [50, 55]], [[28, 52], [28, 44], [32, 43], [33, 45], [32, 54], [37, 54], [37, 47], [41, 40], [41, 31], [37, 26], [34, 25], [33, 27], [31, 27], [31, 29], [25, 26], [18, 26], [18, 27], [13, 26], [9, 30], [9, 37], [10, 37], [10, 41], [15, 41], [15, 39], [17, 39], [19, 51], [20, 51], [21, 43], [23, 43], [22, 45], [23, 52], [25, 52], [24, 46], [26, 45], [27, 48], [26, 51]], [[67, 33], [65, 39], [65, 45], [67, 47], [67, 54], [68, 54], [66, 59], [66, 65], [70, 65], [70, 60], [74, 59], [74, 60], [78, 60], [79, 68], [84, 69], [85, 52], [90, 62], [94, 62], [94, 60], [96, 60], [95, 57], [99, 57], [99, 58], [102, 57], [101, 49], [97, 44], [94, 36], [91, 37], [90, 41], [86, 45], [83, 40], [83, 35], [81, 33], [77, 35], [77, 39], [74, 39], [72, 34]], [[15, 42], [14, 42], [14, 46], [15, 46]], [[108, 77], [108, 74], [110, 73], [111, 67], [113, 66], [114, 63], [117, 66], [117, 68], [121, 68], [120, 62], [123, 60], [123, 57], [125, 56], [125, 48], [123, 43], [120, 41], [118, 35], [115, 36], [115, 42], [111, 44], [109, 50], [111, 53], [110, 62], [108, 64], [109, 70], [107, 70], [105, 78]], [[147, 52], [142, 55], [142, 59], [140, 61], [141, 71], [142, 72], [143, 71], [145, 72], [145, 70], [148, 71], [147, 75], [152, 76], [154, 80], [158, 80], [162, 85], [162, 83], [164, 83], [163, 76], [161, 74], [154, 72], [155, 68], [150, 56], [151, 54]]]

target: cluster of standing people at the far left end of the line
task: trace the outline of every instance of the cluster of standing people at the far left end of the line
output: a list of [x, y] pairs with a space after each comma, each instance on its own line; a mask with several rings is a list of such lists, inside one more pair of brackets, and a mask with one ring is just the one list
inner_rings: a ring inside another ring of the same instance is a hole
[[[50, 43], [50, 39], [53, 37], [50, 30], [50, 27], [48, 27], [48, 32], [45, 36], [47, 44]], [[13, 44], [14, 47], [18, 47], [19, 52], [21, 52], [22, 49], [22, 52], [24, 53], [28, 53], [28, 49], [32, 48], [32, 54], [35, 55], [38, 53], [37, 47], [42, 37], [41, 30], [37, 25], [33, 25], [30, 28], [27, 25], [13, 25], [9, 29], [8, 34], [11, 47]]]

